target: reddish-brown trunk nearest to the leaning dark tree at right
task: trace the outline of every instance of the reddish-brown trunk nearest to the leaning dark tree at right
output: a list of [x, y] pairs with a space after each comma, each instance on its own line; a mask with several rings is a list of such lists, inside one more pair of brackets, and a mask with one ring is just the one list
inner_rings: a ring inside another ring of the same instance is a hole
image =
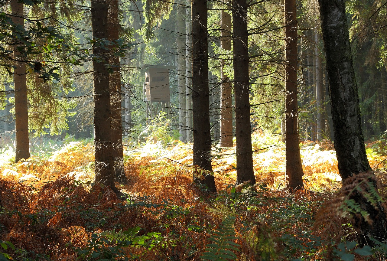
[[297, 17], [296, 1], [284, 0], [285, 7], [285, 145], [286, 175], [291, 190], [303, 188], [297, 104]]

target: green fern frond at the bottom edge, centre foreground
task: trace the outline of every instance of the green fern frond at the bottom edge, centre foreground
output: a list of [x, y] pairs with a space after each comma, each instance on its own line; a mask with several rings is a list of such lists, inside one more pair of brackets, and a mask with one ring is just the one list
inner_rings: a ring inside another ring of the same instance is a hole
[[235, 236], [235, 216], [225, 216], [219, 228], [214, 232], [214, 235], [210, 238], [211, 244], [207, 244], [205, 247], [207, 251], [200, 256], [203, 260], [209, 261], [226, 261], [236, 260], [236, 254], [233, 251], [239, 251], [233, 240], [238, 239]]

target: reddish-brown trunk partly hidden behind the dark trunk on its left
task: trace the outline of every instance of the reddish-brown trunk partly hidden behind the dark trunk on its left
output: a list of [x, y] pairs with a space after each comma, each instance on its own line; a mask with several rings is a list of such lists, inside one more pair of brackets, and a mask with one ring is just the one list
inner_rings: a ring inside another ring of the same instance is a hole
[[[115, 43], [119, 36], [120, 21], [118, 20], [118, 0], [109, 0], [108, 9], [108, 40]], [[111, 142], [114, 159], [114, 172], [116, 179], [120, 182], [127, 182], [123, 166], [123, 148], [122, 148], [122, 108], [121, 108], [121, 74], [120, 57], [114, 56], [112, 45], [109, 63], [111, 65], [111, 74], [109, 76], [110, 84], [110, 107], [111, 107]]]

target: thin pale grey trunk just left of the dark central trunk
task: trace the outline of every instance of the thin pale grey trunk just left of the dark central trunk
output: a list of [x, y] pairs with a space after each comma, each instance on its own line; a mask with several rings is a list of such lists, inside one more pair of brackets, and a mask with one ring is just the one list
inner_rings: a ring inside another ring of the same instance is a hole
[[192, 21], [191, 19], [191, 9], [187, 8], [187, 21], [185, 22], [186, 32], [187, 32], [187, 61], [186, 61], [186, 70], [187, 74], [185, 77], [186, 89], [186, 101], [185, 107], [187, 108], [187, 142], [192, 142], [192, 34], [188, 33], [192, 31]]

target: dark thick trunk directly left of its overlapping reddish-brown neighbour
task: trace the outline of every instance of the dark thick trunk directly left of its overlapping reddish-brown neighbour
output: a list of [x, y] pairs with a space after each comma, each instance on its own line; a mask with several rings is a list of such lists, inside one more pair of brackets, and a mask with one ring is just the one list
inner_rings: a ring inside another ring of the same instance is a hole
[[101, 48], [99, 39], [107, 39], [108, 2], [91, 1], [94, 76], [94, 145], [95, 145], [95, 182], [103, 183], [116, 193], [113, 149], [111, 142], [111, 108], [109, 72], [107, 69], [109, 50]]

